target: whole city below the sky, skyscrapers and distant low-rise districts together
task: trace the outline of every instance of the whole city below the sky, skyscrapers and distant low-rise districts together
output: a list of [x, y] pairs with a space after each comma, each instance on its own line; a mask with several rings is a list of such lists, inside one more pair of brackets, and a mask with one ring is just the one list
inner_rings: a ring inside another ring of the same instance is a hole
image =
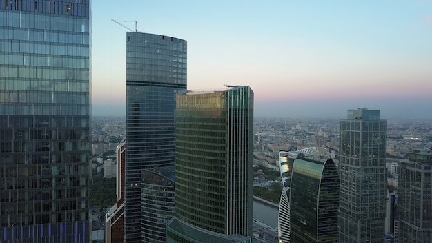
[[90, 12], [0, 1], [0, 243], [432, 242], [430, 120], [254, 117], [118, 21], [126, 117], [92, 117]]

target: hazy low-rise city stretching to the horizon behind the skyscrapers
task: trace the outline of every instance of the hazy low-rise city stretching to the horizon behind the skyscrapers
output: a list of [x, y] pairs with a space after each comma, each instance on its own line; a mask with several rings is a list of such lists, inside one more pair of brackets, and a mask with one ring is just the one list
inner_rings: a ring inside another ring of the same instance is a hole
[[[281, 188], [281, 178], [272, 176], [271, 173], [259, 171], [276, 171], [279, 174], [279, 151], [288, 151], [308, 147], [316, 147], [319, 153], [338, 151], [339, 148], [339, 120], [338, 119], [291, 119], [291, 118], [263, 118], [254, 119], [254, 155], [255, 166], [262, 170], [255, 170], [255, 188], [271, 189], [273, 184]], [[409, 152], [413, 148], [427, 149], [432, 146], [432, 124], [429, 120], [389, 120], [387, 128], [386, 168], [388, 175], [389, 193], [397, 196], [398, 173], [397, 168], [402, 162], [409, 161]], [[113, 139], [124, 137], [126, 129], [126, 117], [92, 117], [92, 155], [100, 157], [108, 151], [114, 151], [117, 147]], [[115, 157], [108, 159], [105, 165], [114, 166]], [[100, 160], [99, 160], [100, 162]], [[99, 163], [103, 168], [102, 162]], [[115, 166], [114, 166], [115, 167]], [[264, 169], [264, 170], [263, 170]], [[101, 173], [104, 170], [100, 170]], [[266, 175], [267, 174], [267, 175]], [[280, 175], [280, 174], [279, 174]], [[269, 179], [270, 178], [270, 179]], [[282, 188], [280, 189], [282, 190]], [[262, 194], [261, 192], [259, 192]], [[278, 242], [277, 237], [277, 210], [279, 206], [280, 191], [275, 193], [277, 200], [271, 197], [264, 199], [271, 202], [260, 202], [258, 198], [254, 202], [254, 236], [263, 242]], [[112, 195], [112, 200], [115, 200]], [[393, 197], [395, 202], [395, 197]], [[396, 201], [397, 202], [397, 201]], [[273, 205], [273, 206], [271, 206]], [[259, 209], [257, 209], [259, 208]], [[106, 210], [107, 208], [105, 208]], [[255, 210], [257, 209], [257, 210]], [[259, 210], [267, 210], [262, 213]], [[273, 214], [271, 213], [273, 212]], [[387, 225], [390, 222], [386, 223]], [[395, 223], [397, 225], [397, 222]], [[394, 235], [391, 227], [387, 226], [386, 233]], [[396, 229], [397, 231], [397, 229]]]

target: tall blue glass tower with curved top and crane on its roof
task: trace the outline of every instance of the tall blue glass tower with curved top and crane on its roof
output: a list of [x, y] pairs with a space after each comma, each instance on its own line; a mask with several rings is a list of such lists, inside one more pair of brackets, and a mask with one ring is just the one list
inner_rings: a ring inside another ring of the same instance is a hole
[[126, 242], [140, 242], [141, 172], [175, 164], [175, 94], [180, 90], [186, 90], [186, 41], [127, 32]]

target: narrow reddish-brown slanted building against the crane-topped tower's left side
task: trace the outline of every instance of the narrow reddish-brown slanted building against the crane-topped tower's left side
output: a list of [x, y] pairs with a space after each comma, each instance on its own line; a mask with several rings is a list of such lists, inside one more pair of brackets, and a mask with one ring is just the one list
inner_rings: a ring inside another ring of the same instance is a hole
[[117, 202], [105, 215], [105, 242], [124, 242], [124, 168], [126, 166], [126, 139], [122, 139], [116, 149]]

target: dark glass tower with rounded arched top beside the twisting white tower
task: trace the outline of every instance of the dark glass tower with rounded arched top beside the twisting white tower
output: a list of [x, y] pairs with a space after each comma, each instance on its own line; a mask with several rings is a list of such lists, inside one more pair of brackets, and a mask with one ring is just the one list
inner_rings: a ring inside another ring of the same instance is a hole
[[333, 159], [297, 155], [291, 177], [291, 242], [337, 242], [339, 177]]

